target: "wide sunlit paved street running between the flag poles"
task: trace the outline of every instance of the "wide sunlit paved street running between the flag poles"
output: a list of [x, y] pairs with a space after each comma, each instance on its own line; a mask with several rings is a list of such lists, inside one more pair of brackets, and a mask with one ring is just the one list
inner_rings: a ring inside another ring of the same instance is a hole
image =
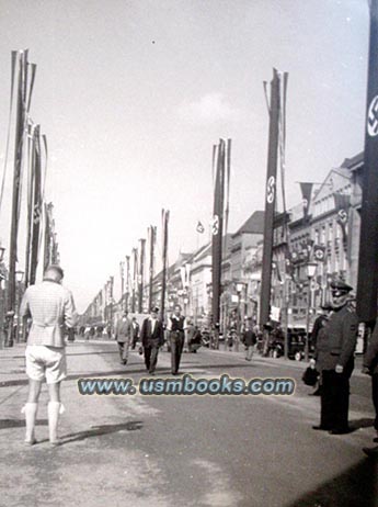
[[[115, 342], [68, 346], [69, 380], [62, 385], [64, 444], [47, 442], [47, 394], [38, 414], [38, 444], [22, 443], [20, 408], [26, 396], [23, 347], [0, 351], [1, 506], [295, 507], [378, 506], [369, 379], [353, 378], [354, 431], [313, 431], [319, 398], [300, 376], [305, 364], [242, 352], [184, 354], [182, 372], [195, 378], [293, 378], [293, 396], [82, 396], [82, 376], [146, 376], [131, 352], [122, 367]], [[156, 378], [170, 376], [159, 356]]]

